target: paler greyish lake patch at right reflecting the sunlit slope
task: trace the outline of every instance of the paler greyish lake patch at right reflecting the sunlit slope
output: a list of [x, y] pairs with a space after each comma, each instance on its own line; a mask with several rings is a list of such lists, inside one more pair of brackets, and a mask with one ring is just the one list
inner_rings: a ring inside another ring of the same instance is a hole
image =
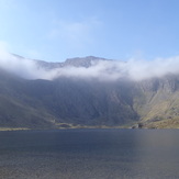
[[141, 130], [134, 134], [137, 158], [133, 163], [132, 174], [138, 178], [179, 177], [179, 131]]

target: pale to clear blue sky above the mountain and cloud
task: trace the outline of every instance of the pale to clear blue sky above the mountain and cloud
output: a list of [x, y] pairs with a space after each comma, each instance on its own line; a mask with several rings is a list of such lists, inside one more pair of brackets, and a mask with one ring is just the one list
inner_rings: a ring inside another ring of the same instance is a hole
[[0, 47], [64, 61], [179, 55], [178, 0], [0, 0]]

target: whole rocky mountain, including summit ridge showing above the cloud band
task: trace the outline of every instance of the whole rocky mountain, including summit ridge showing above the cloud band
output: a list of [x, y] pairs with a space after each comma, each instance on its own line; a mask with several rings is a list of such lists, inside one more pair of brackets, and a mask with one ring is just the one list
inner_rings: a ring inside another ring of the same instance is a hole
[[[111, 60], [89, 56], [64, 63], [32, 61], [47, 72], [60, 72], [71, 69], [68, 67], [90, 69]], [[108, 68], [110, 75], [113, 69]], [[179, 127], [178, 115], [178, 75], [144, 80], [105, 80], [93, 76], [46, 80], [25, 79], [0, 68], [1, 127]]]

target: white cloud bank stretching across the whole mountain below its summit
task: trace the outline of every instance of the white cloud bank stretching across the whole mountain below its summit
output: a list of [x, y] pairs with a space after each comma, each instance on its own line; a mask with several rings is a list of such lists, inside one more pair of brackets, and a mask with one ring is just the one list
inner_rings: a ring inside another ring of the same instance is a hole
[[98, 78], [100, 80], [116, 80], [130, 78], [143, 80], [163, 77], [167, 74], [179, 74], [179, 56], [157, 58], [154, 60], [130, 59], [127, 63], [116, 60], [99, 60], [91, 67], [72, 67], [45, 69], [34, 60], [20, 58], [0, 49], [0, 68], [25, 79], [53, 80], [58, 77]]

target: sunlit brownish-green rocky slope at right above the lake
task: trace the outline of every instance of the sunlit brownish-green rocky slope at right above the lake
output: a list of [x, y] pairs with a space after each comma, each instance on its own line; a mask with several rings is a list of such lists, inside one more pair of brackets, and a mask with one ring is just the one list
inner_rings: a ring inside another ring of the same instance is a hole
[[178, 127], [179, 77], [168, 75], [137, 83], [134, 108], [147, 127]]

